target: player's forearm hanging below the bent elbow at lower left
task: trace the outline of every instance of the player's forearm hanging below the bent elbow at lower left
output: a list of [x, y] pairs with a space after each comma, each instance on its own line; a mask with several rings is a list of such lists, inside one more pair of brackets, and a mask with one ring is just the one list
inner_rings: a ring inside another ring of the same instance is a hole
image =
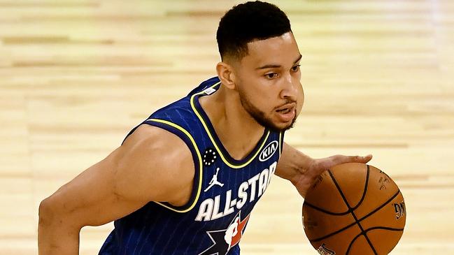
[[52, 212], [49, 205], [41, 203], [38, 223], [39, 255], [79, 254], [80, 228], [69, 226], [63, 217]]

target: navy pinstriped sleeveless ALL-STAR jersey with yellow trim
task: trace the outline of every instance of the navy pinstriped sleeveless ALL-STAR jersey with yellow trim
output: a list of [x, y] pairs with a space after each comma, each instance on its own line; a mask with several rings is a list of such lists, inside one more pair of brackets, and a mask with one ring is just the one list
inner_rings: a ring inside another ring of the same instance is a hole
[[181, 207], [150, 202], [116, 220], [99, 254], [240, 253], [239, 241], [250, 212], [267, 189], [281, 156], [283, 131], [265, 129], [248, 156], [233, 159], [199, 104], [200, 96], [213, 94], [219, 87], [218, 78], [206, 80], [141, 123], [170, 131], [190, 149], [195, 167], [190, 201]]

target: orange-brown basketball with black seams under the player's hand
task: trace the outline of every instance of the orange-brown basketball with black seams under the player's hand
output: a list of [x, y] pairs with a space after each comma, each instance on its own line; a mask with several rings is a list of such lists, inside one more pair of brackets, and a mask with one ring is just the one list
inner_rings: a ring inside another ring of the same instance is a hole
[[405, 226], [404, 197], [383, 171], [343, 163], [308, 189], [303, 226], [319, 254], [382, 255], [397, 245]]

